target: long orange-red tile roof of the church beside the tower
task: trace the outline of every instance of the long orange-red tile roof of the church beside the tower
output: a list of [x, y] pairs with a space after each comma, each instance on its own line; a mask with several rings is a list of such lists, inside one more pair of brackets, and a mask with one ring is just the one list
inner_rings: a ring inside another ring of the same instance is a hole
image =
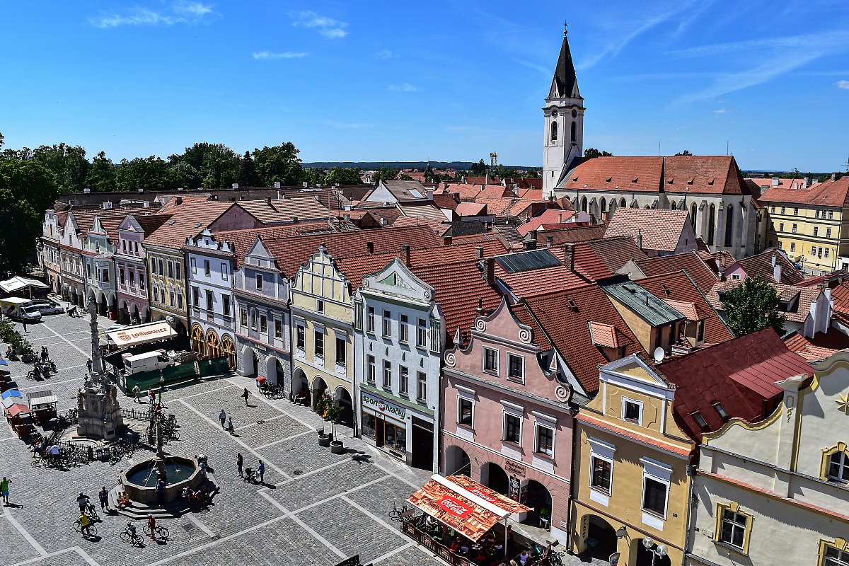
[[745, 181], [730, 155], [595, 157], [571, 171], [560, 188], [627, 193], [746, 194]]

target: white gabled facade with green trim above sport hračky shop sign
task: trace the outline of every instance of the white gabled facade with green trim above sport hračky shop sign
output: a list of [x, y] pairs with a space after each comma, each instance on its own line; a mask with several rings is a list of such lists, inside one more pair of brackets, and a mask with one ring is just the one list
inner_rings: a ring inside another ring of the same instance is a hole
[[[354, 297], [354, 377], [364, 440], [438, 471], [441, 331], [435, 291], [394, 259]], [[362, 353], [362, 355], [360, 355]]]

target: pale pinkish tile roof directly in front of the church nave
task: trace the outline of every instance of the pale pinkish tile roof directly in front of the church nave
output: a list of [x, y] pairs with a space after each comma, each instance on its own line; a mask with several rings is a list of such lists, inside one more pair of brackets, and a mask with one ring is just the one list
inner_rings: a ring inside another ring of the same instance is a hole
[[617, 208], [607, 225], [604, 238], [643, 237], [643, 249], [675, 251], [678, 240], [689, 221], [686, 210]]

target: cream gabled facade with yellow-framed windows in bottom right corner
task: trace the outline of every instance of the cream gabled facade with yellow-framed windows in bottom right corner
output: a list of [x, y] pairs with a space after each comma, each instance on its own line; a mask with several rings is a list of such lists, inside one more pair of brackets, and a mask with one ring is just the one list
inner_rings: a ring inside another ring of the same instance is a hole
[[849, 354], [811, 366], [769, 417], [705, 434], [688, 563], [849, 563]]

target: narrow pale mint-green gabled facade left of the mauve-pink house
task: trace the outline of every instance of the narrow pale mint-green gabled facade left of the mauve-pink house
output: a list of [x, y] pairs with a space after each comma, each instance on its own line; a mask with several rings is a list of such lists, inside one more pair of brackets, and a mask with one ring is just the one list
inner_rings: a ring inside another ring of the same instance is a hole
[[101, 315], [110, 312], [115, 318], [115, 262], [113, 252], [115, 244], [110, 242], [100, 216], [94, 216], [92, 229], [83, 240], [82, 263], [83, 278], [87, 289], [87, 299], [98, 304]]

